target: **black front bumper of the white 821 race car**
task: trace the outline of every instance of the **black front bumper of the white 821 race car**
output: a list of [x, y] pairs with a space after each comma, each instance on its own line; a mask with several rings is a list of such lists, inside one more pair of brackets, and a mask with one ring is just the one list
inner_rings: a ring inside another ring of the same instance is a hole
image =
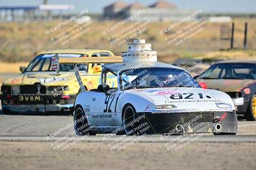
[[[147, 134], [191, 134], [237, 132], [237, 115], [233, 112], [207, 113], [138, 113], [145, 114], [150, 128]], [[140, 122], [141, 124], [141, 122]]]

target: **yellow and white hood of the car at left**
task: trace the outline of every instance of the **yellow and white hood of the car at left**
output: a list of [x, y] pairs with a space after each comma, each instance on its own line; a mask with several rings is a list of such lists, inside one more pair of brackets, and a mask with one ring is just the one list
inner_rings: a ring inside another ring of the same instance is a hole
[[63, 83], [73, 80], [75, 76], [70, 76], [67, 72], [56, 75], [54, 72], [23, 73], [3, 81], [3, 85], [63, 85]]

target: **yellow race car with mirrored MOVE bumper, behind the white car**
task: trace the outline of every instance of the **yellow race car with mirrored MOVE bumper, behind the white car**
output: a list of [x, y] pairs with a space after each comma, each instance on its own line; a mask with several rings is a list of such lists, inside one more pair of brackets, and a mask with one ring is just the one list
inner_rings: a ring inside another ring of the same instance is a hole
[[[48, 50], [39, 53], [28, 67], [20, 66], [19, 76], [3, 81], [1, 103], [4, 113], [72, 113], [74, 99], [81, 90], [72, 64], [59, 64], [54, 70], [54, 57], [115, 56], [108, 50]], [[84, 89], [96, 89], [100, 83], [100, 63], [76, 66]], [[111, 77], [112, 75], [109, 74]], [[113, 81], [112, 81], [113, 80]], [[115, 76], [107, 82], [115, 86]]]

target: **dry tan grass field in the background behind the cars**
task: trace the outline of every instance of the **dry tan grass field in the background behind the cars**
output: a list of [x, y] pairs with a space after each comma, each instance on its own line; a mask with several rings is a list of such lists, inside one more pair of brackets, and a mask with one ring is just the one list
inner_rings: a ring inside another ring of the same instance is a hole
[[[255, 56], [256, 50], [256, 20], [255, 19], [244, 19], [239, 18], [234, 20], [236, 24], [235, 31], [235, 42], [236, 48], [243, 47], [243, 32], [244, 22], [248, 22], [248, 48], [250, 52], [248, 57]], [[111, 45], [108, 38], [113, 36], [118, 31], [121, 31], [125, 27], [129, 27], [131, 23], [121, 25], [114, 32], [106, 35], [102, 34], [102, 31], [107, 30], [111, 27], [113, 22], [93, 22], [90, 25], [90, 29], [85, 34], [78, 36], [73, 41], [70, 41], [66, 45], [54, 45], [51, 38], [56, 34], [60, 34], [65, 31], [68, 27], [74, 25], [68, 24], [57, 31], [53, 32], [50, 36], [45, 34], [45, 31], [54, 27], [60, 21], [52, 22], [29, 22], [29, 23], [0, 23], [0, 60], [6, 62], [20, 62], [29, 61], [35, 57], [36, 53], [43, 50], [56, 49], [56, 48], [99, 48], [108, 49], [113, 51], [116, 55], [120, 52], [127, 50], [125, 43], [123, 45]], [[163, 30], [172, 23], [170, 22], [159, 22], [150, 23], [147, 25], [147, 30], [141, 34], [142, 38], [147, 39], [148, 42], [152, 43], [153, 49], [157, 50], [159, 59], [164, 62], [171, 62], [180, 57], [198, 57], [207, 56], [207, 52], [218, 51], [220, 49], [227, 49], [229, 41], [220, 40], [220, 25], [207, 23], [204, 25], [204, 31], [196, 34], [192, 38], [188, 39], [180, 45], [168, 45], [164, 38], [172, 32], [167, 32], [164, 35], [160, 35], [159, 31]], [[182, 27], [188, 25], [184, 23], [175, 27], [178, 31]], [[231, 25], [231, 24], [227, 24]], [[230, 53], [231, 57], [235, 52]], [[243, 52], [239, 52], [243, 55]], [[226, 55], [226, 52], [214, 52], [210, 55]], [[241, 56], [244, 57], [245, 55]]]

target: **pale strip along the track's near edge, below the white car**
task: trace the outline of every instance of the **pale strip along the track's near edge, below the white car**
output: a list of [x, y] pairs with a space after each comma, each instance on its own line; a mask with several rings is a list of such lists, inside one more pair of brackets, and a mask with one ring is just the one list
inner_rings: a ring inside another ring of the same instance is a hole
[[[54, 137], [49, 136], [0, 136], [0, 141], [31, 141], [31, 142], [55, 142], [55, 141], [67, 141], [68, 138], [64, 137]], [[147, 136], [137, 136], [136, 138], [129, 138], [129, 136], [111, 136], [106, 138], [103, 135], [97, 136], [79, 136], [79, 137], [69, 137], [68, 142], [93, 142], [93, 143], [111, 143], [116, 141], [125, 140], [126, 143], [182, 143], [186, 142], [199, 142], [199, 143], [256, 143], [256, 136], [246, 135], [246, 136], [209, 136], [201, 135], [186, 135], [186, 136], [167, 136], [163, 135], [147, 135]]]

